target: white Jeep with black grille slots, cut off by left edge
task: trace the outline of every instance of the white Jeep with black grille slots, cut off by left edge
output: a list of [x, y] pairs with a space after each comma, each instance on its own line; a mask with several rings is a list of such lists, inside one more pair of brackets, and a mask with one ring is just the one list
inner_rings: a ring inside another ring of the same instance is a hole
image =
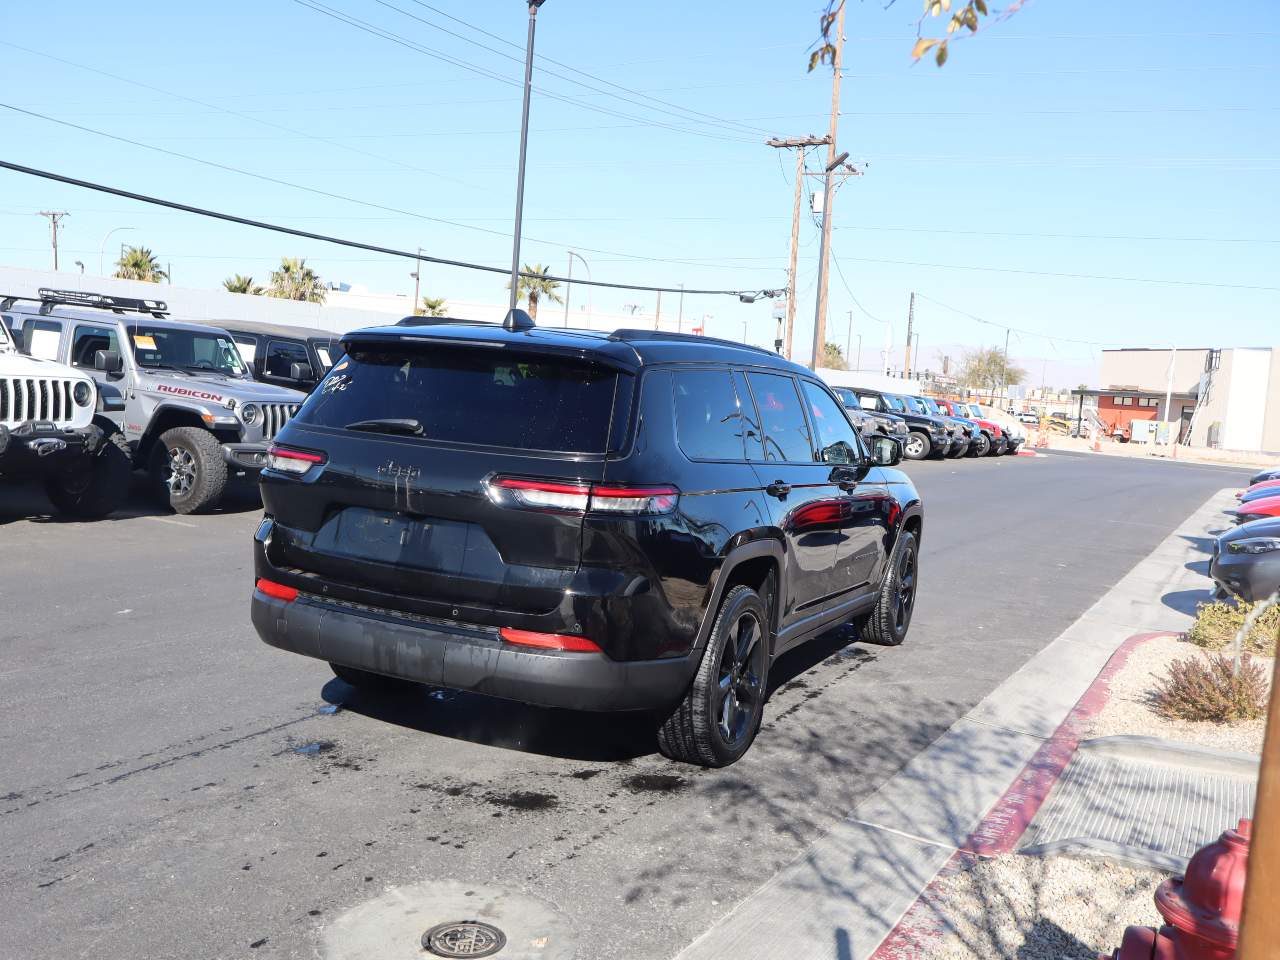
[[0, 483], [44, 480], [59, 512], [105, 517], [128, 497], [129, 444], [92, 378], [23, 356], [9, 319], [0, 314]]

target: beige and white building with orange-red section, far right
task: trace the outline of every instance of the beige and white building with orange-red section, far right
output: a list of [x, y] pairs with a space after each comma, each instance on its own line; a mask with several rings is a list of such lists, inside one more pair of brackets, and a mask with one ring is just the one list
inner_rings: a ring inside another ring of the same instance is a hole
[[1280, 451], [1280, 348], [1105, 349], [1098, 383], [1080, 393], [1108, 424], [1169, 420], [1192, 447]]

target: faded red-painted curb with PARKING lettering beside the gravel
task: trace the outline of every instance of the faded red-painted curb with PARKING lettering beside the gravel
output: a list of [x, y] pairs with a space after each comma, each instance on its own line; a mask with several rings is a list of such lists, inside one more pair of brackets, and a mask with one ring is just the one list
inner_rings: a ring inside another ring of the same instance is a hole
[[870, 960], [914, 960], [923, 955], [920, 951], [928, 947], [929, 941], [945, 933], [938, 920], [940, 881], [977, 859], [1007, 854], [1016, 846], [1053, 785], [1057, 783], [1057, 778], [1062, 776], [1066, 764], [1070, 763], [1088, 721], [1101, 713], [1111, 699], [1111, 681], [1140, 644], [1157, 636], [1178, 636], [1178, 634], [1169, 631], [1134, 634], [1116, 648], [1106, 666], [1089, 684], [1089, 689], [1080, 695], [1075, 707], [1053, 731], [1053, 736], [1041, 745], [1004, 796], [969, 835], [964, 846], [951, 855], [937, 876], [920, 891], [920, 896], [881, 941]]

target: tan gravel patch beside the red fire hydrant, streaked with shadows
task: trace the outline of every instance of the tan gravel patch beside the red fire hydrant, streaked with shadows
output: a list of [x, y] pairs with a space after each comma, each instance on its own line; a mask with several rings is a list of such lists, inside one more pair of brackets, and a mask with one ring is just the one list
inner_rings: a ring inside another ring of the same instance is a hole
[[938, 881], [931, 960], [1096, 960], [1130, 924], [1160, 925], [1152, 895], [1165, 874], [1098, 860], [1007, 854]]

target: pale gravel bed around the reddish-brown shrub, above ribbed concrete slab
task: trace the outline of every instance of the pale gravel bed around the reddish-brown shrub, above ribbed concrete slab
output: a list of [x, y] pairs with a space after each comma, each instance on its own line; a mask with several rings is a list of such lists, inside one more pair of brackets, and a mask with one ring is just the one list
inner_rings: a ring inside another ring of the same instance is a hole
[[[1160, 636], [1139, 644], [1130, 654], [1124, 669], [1111, 681], [1111, 698], [1102, 712], [1093, 718], [1087, 737], [1152, 736], [1219, 750], [1261, 754], [1262, 733], [1266, 728], [1265, 719], [1230, 726], [1192, 723], [1165, 719], [1152, 709], [1151, 692], [1156, 678], [1164, 676], [1170, 663], [1188, 657], [1208, 659], [1210, 655], [1208, 650], [1180, 637]], [[1272, 660], [1262, 657], [1256, 658], [1256, 660], [1270, 677]]]

